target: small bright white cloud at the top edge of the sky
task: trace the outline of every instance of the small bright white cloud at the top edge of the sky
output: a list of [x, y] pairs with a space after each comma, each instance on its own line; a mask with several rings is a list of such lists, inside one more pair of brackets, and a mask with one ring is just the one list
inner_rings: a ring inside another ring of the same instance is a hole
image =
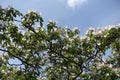
[[87, 0], [67, 0], [67, 4], [71, 8], [75, 8], [78, 5], [82, 5], [83, 3], [87, 2]]

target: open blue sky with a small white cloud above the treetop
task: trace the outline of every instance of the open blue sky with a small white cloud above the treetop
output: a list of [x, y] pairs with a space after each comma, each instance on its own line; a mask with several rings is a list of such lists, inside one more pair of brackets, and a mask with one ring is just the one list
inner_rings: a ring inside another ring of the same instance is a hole
[[54, 20], [62, 27], [78, 27], [82, 34], [89, 27], [120, 23], [120, 0], [0, 0], [0, 5], [23, 13], [38, 10], [45, 24]]

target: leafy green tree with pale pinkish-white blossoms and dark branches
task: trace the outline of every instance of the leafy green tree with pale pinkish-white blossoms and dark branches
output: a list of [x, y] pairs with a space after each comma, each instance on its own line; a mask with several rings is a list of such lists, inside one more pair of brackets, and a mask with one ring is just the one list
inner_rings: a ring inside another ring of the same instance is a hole
[[[17, 60], [10, 62], [10, 60]], [[77, 28], [43, 25], [35, 11], [0, 8], [1, 80], [116, 80], [120, 77], [120, 25]]]

